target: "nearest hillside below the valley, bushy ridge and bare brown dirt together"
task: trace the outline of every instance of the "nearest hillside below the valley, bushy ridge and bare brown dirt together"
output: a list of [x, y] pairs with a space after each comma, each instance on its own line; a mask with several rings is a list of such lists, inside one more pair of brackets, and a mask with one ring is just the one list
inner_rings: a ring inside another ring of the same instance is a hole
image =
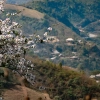
[[[12, 100], [14, 97], [21, 99], [25, 97], [25, 95], [29, 96], [31, 98], [30, 100], [39, 100], [39, 97], [44, 98], [44, 96], [46, 96], [46, 100], [56, 100], [57, 98], [58, 100], [78, 100], [85, 98], [86, 95], [91, 96], [92, 99], [98, 98], [99, 100], [99, 84], [97, 84], [95, 80], [89, 79], [83, 72], [79, 73], [71, 70], [67, 66], [66, 68], [63, 68], [61, 65], [55, 65], [51, 62], [40, 60], [36, 56], [34, 58], [27, 56], [26, 58], [31, 60], [35, 66], [34, 69], [30, 68], [29, 70], [29, 75], [35, 75], [35, 83], [30, 80], [31, 83], [33, 82], [33, 85], [31, 85], [26, 81], [28, 78], [25, 79], [23, 77], [26, 75], [24, 71], [21, 74], [23, 75], [22, 77], [20, 77], [19, 74], [14, 73], [14, 71], [13, 73], [10, 72], [9, 74], [12, 73], [13, 77], [12, 81], [6, 80], [4, 82], [3, 79], [5, 78], [0, 76], [0, 78], [2, 78], [0, 84], [3, 82], [1, 87], [3, 91], [2, 96], [4, 96], [5, 100], [10, 100], [11, 97]], [[20, 70], [17, 71], [20, 72]], [[9, 79], [10, 78], [11, 76], [9, 76]], [[12, 92], [16, 94], [11, 95]], [[8, 95], [11, 95], [11, 97], [8, 97]], [[43, 100], [45, 100], [45, 98]]]

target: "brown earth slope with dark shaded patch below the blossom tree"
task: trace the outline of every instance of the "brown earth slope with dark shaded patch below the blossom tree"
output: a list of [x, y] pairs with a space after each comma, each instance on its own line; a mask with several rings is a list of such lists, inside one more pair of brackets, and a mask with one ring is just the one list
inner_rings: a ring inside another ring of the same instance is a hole
[[[4, 72], [4, 78], [1, 76], [1, 71]], [[4, 100], [27, 100], [27, 97], [30, 100], [39, 100], [39, 98], [44, 100], [45, 97], [46, 100], [51, 100], [47, 93], [26, 87], [23, 80], [24, 78], [19, 74], [13, 74], [10, 69], [0, 67], [0, 97]]]

